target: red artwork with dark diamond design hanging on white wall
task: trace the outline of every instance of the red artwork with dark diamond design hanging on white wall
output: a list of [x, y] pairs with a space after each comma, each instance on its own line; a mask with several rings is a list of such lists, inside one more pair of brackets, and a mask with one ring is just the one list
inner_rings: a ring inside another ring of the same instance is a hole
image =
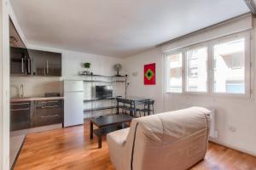
[[155, 84], [155, 63], [144, 65], [144, 85]]

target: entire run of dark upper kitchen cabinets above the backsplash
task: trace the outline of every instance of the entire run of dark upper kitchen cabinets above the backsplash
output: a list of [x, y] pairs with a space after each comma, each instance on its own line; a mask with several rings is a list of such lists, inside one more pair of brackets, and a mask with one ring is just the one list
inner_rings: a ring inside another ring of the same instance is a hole
[[10, 19], [9, 32], [12, 76], [61, 77], [60, 53], [27, 49]]

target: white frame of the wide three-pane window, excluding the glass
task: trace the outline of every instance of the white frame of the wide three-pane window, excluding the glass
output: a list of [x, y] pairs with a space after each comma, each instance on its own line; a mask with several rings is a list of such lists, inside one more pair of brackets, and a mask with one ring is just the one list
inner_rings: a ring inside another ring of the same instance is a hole
[[[221, 43], [221, 42], [228, 42], [234, 39], [245, 38], [245, 94], [228, 94], [228, 93], [215, 93], [214, 92], [214, 71], [213, 71], [213, 64], [214, 64], [214, 45]], [[241, 98], [252, 98], [253, 94], [253, 62], [251, 59], [252, 52], [252, 42], [251, 42], [251, 31], [242, 31], [239, 33], [235, 33], [225, 37], [219, 37], [213, 40], [209, 40], [207, 42], [196, 43], [193, 45], [189, 45], [183, 48], [176, 48], [174, 50], [170, 50], [165, 53], [165, 62], [166, 62], [166, 71], [165, 71], [165, 86], [166, 86], [166, 94], [202, 94], [202, 95], [212, 95], [212, 96], [224, 96], [224, 97], [241, 97]], [[191, 48], [197, 47], [207, 47], [207, 92], [190, 92], [187, 91], [187, 59], [186, 53]], [[178, 54], [182, 53], [183, 57], [183, 65], [182, 65], [182, 92], [170, 92], [168, 91], [168, 84], [167, 81], [169, 79], [167, 73], [167, 54]]]

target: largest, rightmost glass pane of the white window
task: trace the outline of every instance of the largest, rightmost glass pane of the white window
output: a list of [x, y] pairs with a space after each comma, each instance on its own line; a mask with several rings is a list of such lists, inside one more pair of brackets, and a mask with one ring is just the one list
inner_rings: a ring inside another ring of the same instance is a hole
[[245, 94], [245, 39], [214, 46], [214, 92]]

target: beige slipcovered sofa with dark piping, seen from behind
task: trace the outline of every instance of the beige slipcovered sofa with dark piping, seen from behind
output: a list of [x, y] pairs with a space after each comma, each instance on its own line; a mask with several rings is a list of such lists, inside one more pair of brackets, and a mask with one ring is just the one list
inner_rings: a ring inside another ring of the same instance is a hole
[[130, 128], [108, 133], [116, 170], [184, 170], [204, 159], [210, 113], [191, 107], [133, 119]]

